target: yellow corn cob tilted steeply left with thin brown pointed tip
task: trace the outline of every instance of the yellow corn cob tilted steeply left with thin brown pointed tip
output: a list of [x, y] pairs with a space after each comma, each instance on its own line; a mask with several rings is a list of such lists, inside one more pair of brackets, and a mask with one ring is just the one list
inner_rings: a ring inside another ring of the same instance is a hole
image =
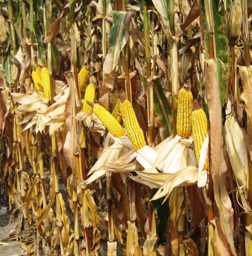
[[94, 104], [90, 101], [87, 101], [87, 103], [93, 108], [95, 115], [100, 119], [100, 121], [105, 125], [105, 127], [113, 136], [121, 138], [124, 135], [122, 126], [104, 107], [99, 104]]

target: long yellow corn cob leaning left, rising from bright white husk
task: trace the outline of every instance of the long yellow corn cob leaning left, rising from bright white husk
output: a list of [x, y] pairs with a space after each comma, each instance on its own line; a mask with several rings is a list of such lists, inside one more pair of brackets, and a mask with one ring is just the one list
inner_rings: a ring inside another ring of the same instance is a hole
[[120, 101], [120, 112], [126, 132], [133, 148], [137, 151], [146, 146], [143, 132], [139, 126], [136, 114], [131, 103], [122, 94], [120, 95]]

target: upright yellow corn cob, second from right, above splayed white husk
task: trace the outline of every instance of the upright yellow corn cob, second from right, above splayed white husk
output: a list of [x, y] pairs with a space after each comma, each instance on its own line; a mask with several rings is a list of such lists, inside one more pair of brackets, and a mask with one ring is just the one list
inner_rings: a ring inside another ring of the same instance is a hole
[[181, 137], [188, 138], [191, 134], [191, 116], [193, 111], [193, 95], [188, 84], [179, 91], [177, 133]]

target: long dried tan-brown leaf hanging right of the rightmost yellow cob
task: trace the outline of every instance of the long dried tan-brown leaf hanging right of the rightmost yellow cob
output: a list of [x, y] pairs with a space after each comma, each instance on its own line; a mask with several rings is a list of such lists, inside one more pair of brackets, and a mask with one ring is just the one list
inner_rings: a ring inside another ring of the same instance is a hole
[[237, 255], [234, 246], [234, 210], [226, 189], [227, 167], [223, 155], [223, 138], [221, 135], [221, 103], [216, 74], [215, 60], [205, 61], [204, 76], [207, 81], [207, 99], [210, 119], [211, 139], [211, 173], [214, 186], [214, 197], [220, 213], [220, 223], [223, 233], [230, 245], [232, 253]]

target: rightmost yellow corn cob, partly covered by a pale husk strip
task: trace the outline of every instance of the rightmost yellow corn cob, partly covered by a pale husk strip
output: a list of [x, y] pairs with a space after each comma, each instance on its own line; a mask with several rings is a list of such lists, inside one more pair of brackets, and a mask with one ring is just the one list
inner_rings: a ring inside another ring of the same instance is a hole
[[[194, 150], [196, 155], [197, 164], [199, 165], [200, 160], [200, 150], [204, 139], [207, 135], [207, 118], [204, 110], [200, 107], [197, 100], [193, 104], [194, 111], [192, 112], [192, 130], [193, 130], [193, 140], [194, 140]], [[206, 161], [203, 170], [208, 170], [208, 157], [206, 156]]]

